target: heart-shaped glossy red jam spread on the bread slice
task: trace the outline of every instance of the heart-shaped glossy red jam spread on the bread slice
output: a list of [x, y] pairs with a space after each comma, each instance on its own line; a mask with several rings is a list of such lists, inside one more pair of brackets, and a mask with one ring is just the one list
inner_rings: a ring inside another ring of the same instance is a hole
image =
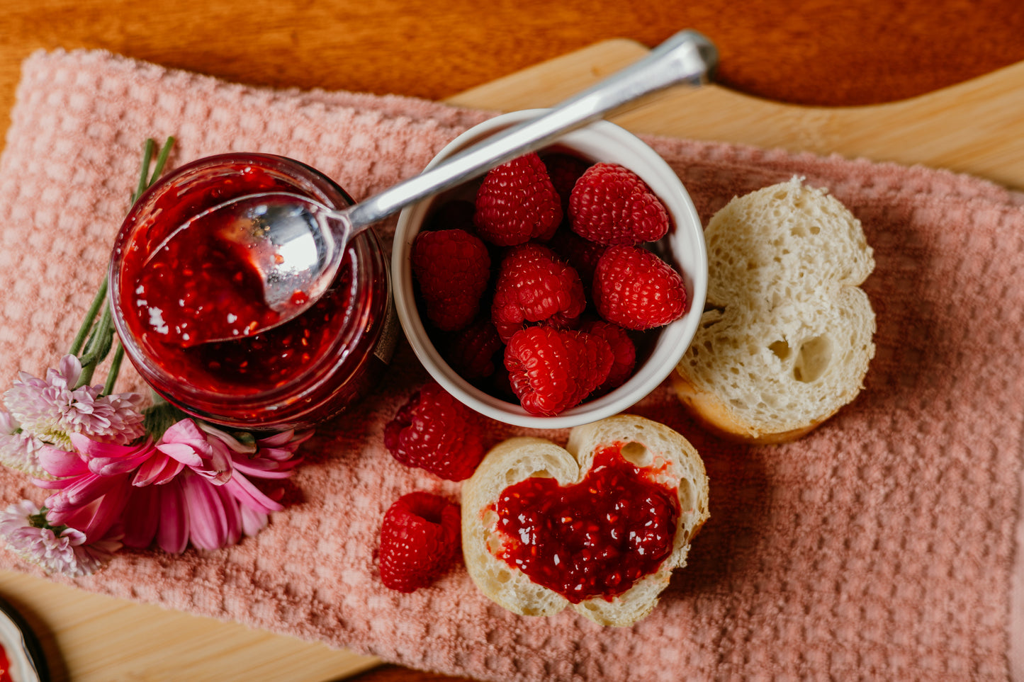
[[601, 449], [568, 486], [531, 477], [495, 504], [505, 540], [499, 558], [572, 603], [610, 599], [657, 570], [672, 553], [679, 499], [622, 455]]

